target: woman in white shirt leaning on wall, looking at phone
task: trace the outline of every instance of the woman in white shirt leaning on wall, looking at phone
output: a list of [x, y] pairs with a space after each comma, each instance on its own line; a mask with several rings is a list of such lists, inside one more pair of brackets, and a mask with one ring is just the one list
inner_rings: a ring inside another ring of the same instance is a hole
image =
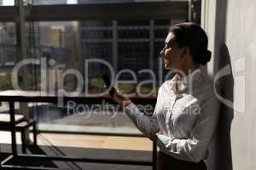
[[153, 116], [144, 116], [119, 90], [113, 95], [143, 134], [157, 142], [158, 170], [207, 169], [204, 160], [218, 124], [213, 83], [200, 67], [211, 59], [207, 43], [206, 32], [195, 23], [171, 26], [160, 54], [165, 69], [177, 74], [161, 85]]

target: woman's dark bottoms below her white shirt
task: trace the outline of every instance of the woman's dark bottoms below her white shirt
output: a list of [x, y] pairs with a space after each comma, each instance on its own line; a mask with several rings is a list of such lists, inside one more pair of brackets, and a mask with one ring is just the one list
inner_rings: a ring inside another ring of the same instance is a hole
[[159, 151], [157, 155], [157, 170], [207, 170], [205, 161], [182, 161]]

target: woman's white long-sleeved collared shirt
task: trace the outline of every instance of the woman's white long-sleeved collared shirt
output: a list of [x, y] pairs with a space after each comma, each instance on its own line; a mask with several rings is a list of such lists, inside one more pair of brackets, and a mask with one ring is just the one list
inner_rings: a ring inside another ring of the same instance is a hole
[[161, 151], [183, 161], [198, 162], [207, 157], [218, 124], [218, 99], [213, 82], [200, 68], [181, 78], [174, 94], [176, 78], [161, 85], [153, 116], [143, 115], [133, 103], [125, 107], [125, 113], [145, 136], [156, 138]]

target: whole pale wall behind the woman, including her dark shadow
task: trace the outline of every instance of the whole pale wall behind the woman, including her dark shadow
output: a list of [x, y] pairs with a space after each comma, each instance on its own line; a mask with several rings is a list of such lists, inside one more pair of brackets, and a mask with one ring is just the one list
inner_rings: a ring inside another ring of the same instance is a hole
[[[213, 52], [208, 71], [218, 79], [222, 105], [210, 170], [256, 169], [256, 1], [206, 0], [203, 26]], [[224, 70], [221, 70], [223, 69]]]

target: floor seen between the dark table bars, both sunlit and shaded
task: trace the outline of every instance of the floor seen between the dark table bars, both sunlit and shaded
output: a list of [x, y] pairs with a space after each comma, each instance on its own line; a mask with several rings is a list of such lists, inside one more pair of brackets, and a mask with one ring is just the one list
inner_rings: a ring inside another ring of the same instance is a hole
[[[10, 152], [10, 133], [0, 132], [0, 153], [3, 157]], [[17, 134], [18, 149], [20, 150], [20, 134]], [[78, 156], [93, 158], [111, 158], [124, 160], [152, 160], [152, 143], [149, 139], [139, 137], [113, 137], [82, 134], [41, 133], [38, 135], [37, 149], [28, 152], [46, 154], [49, 156]], [[98, 163], [77, 162], [27, 162], [25, 165], [44, 165], [60, 167], [61, 169], [90, 169], [90, 170], [150, 170], [152, 167], [111, 165]]]

